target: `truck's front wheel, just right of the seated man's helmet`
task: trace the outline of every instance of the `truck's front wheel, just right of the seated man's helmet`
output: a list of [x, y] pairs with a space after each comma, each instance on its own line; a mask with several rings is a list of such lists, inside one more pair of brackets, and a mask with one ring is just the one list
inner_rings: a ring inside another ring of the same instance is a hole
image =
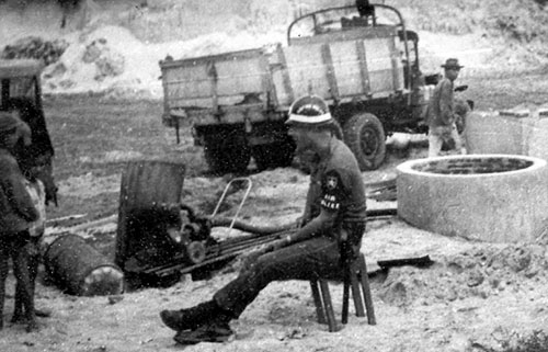
[[376, 170], [385, 160], [386, 137], [377, 116], [361, 113], [352, 116], [343, 127], [344, 143], [357, 159], [359, 170]]

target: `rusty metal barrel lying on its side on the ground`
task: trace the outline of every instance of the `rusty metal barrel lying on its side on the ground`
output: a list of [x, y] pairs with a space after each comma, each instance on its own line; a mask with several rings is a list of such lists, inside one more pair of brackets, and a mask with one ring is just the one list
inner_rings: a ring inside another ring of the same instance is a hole
[[77, 235], [54, 240], [44, 254], [44, 265], [56, 285], [68, 294], [102, 296], [124, 291], [119, 268]]

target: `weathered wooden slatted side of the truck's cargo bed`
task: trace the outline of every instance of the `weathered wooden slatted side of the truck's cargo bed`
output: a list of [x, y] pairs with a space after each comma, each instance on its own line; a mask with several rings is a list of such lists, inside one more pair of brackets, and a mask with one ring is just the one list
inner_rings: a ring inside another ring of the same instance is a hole
[[285, 112], [313, 93], [328, 102], [387, 98], [404, 89], [396, 30], [363, 29], [339, 41], [310, 38], [242, 52], [160, 63], [165, 115], [194, 124], [241, 123]]

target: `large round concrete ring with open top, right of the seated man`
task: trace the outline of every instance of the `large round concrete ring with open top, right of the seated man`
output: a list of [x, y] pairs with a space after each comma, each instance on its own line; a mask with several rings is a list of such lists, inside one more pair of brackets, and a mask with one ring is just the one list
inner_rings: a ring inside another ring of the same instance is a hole
[[398, 215], [445, 236], [533, 242], [548, 218], [546, 160], [468, 155], [410, 160], [397, 168]]

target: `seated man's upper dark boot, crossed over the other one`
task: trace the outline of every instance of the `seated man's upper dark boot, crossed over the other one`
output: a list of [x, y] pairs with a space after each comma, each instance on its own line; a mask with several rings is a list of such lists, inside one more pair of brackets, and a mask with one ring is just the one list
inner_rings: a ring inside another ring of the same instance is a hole
[[160, 318], [172, 330], [195, 330], [212, 320], [219, 309], [214, 300], [207, 300], [187, 309], [162, 310]]

